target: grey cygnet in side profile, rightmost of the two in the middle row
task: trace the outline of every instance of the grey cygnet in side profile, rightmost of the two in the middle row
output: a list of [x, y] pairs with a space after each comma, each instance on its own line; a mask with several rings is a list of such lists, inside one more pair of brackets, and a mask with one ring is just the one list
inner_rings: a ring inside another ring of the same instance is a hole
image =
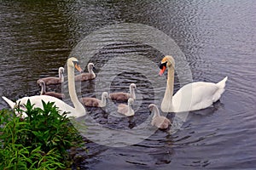
[[109, 94], [109, 98], [116, 99], [116, 100], [127, 100], [129, 98], [136, 99], [136, 95], [135, 95], [135, 89], [137, 88], [136, 84], [131, 83], [129, 88], [130, 88], [129, 94], [118, 92], [118, 93]]

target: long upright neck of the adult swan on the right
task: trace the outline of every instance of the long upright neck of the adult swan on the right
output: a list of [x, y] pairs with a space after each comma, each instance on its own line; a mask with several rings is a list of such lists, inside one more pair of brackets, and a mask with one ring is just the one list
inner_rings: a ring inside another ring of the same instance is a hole
[[167, 85], [166, 93], [161, 104], [161, 110], [164, 112], [170, 112], [173, 110], [172, 106], [172, 94], [173, 94], [173, 83], [174, 83], [174, 68], [168, 66]]

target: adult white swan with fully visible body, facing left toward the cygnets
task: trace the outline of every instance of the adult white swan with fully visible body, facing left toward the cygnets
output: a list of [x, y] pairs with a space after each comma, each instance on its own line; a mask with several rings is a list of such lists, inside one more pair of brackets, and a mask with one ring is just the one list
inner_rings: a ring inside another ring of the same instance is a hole
[[182, 112], [196, 111], [209, 107], [216, 102], [224, 93], [225, 77], [218, 83], [213, 82], [192, 82], [180, 88], [173, 94], [175, 62], [172, 56], [165, 56], [160, 64], [160, 76], [168, 69], [167, 86], [164, 99], [161, 103], [161, 111]]

